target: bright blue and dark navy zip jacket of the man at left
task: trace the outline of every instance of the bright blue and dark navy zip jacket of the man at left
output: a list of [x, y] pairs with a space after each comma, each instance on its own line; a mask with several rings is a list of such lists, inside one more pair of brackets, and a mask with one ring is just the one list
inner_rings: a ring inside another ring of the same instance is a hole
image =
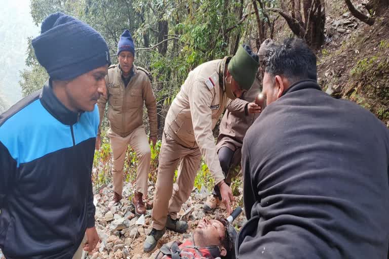
[[72, 258], [95, 224], [91, 171], [99, 114], [43, 90], [0, 115], [0, 248], [7, 259]]

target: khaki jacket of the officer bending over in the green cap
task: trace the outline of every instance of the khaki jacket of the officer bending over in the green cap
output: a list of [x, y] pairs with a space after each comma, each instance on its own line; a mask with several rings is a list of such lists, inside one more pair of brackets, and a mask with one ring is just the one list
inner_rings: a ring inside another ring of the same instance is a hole
[[229, 57], [206, 62], [189, 72], [165, 120], [165, 133], [179, 144], [199, 147], [215, 184], [224, 180], [212, 130], [224, 111], [224, 66]]

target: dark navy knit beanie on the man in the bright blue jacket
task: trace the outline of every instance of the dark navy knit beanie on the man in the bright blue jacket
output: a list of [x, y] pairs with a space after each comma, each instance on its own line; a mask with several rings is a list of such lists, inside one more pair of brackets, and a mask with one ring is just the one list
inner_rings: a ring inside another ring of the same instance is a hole
[[41, 26], [41, 35], [32, 39], [38, 62], [54, 80], [70, 80], [95, 68], [111, 64], [104, 38], [86, 23], [54, 13]]

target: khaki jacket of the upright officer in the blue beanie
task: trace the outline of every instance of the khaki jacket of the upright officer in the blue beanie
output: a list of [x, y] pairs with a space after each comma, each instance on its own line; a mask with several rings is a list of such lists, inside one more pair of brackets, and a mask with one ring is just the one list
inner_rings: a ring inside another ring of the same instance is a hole
[[[145, 103], [150, 126], [150, 137], [157, 136], [157, 103], [151, 89], [148, 72], [133, 65], [134, 74], [127, 87], [122, 79], [119, 65], [110, 66], [105, 77], [107, 96], [97, 102], [100, 112], [100, 125], [108, 102], [107, 118], [111, 130], [128, 136], [135, 128], [143, 125], [143, 103]], [[100, 127], [99, 127], [100, 133]]]

